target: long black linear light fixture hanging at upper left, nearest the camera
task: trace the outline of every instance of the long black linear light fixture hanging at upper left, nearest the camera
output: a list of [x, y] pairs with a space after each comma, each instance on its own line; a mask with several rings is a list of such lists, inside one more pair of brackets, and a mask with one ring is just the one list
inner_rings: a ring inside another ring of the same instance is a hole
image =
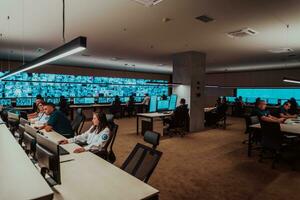
[[78, 53], [80, 51], [83, 51], [86, 49], [86, 37], [78, 37], [63, 46], [60, 46], [49, 53], [46, 53], [37, 59], [22, 65], [21, 67], [11, 71], [8, 74], [5, 74], [4, 76], [0, 77], [0, 80], [3, 80], [5, 78], [11, 77], [13, 75], [19, 74], [24, 71], [28, 71], [34, 68], [37, 68], [39, 66], [45, 65], [47, 63], [53, 62], [55, 60], [67, 57], [69, 55]]

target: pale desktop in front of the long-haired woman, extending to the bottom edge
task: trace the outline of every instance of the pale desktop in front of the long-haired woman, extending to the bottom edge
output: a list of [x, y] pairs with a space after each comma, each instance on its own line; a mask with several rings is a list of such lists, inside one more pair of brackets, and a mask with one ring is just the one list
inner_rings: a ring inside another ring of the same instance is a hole
[[[56, 132], [43, 133], [53, 141], [64, 137]], [[54, 199], [145, 199], [158, 190], [90, 152], [72, 153], [76, 144], [62, 145], [69, 155], [61, 156], [61, 185], [54, 186]]]

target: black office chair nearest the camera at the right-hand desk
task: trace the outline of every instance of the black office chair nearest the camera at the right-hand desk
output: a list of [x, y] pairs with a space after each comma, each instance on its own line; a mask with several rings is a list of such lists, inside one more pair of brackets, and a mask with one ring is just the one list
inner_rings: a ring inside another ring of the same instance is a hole
[[[285, 139], [279, 123], [261, 121], [260, 124], [262, 130], [262, 149], [259, 161], [262, 162], [265, 158], [272, 159], [272, 169], [274, 169], [275, 164], [279, 159], [283, 158], [284, 153], [288, 150], [292, 150], [293, 145], [292, 143], [288, 143], [288, 140]], [[264, 157], [266, 152], [270, 152], [271, 156]], [[293, 159], [291, 159], [291, 161], [293, 161]], [[292, 167], [294, 166], [292, 165]]]

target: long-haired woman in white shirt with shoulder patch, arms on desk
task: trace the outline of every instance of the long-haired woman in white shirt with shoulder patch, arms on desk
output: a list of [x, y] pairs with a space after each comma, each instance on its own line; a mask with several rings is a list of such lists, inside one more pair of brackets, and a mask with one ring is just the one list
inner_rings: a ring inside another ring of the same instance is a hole
[[92, 127], [85, 133], [75, 136], [70, 139], [59, 141], [59, 144], [68, 144], [74, 142], [86, 143], [85, 147], [79, 147], [74, 150], [74, 153], [81, 153], [84, 151], [101, 151], [106, 142], [110, 138], [110, 130], [106, 115], [101, 112], [93, 114]]

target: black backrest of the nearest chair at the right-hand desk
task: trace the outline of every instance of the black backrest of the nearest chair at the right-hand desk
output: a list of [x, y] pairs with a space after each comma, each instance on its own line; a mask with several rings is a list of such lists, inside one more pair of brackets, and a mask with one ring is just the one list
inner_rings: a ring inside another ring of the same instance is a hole
[[279, 123], [261, 121], [262, 146], [272, 150], [279, 150], [283, 144], [284, 136]]

